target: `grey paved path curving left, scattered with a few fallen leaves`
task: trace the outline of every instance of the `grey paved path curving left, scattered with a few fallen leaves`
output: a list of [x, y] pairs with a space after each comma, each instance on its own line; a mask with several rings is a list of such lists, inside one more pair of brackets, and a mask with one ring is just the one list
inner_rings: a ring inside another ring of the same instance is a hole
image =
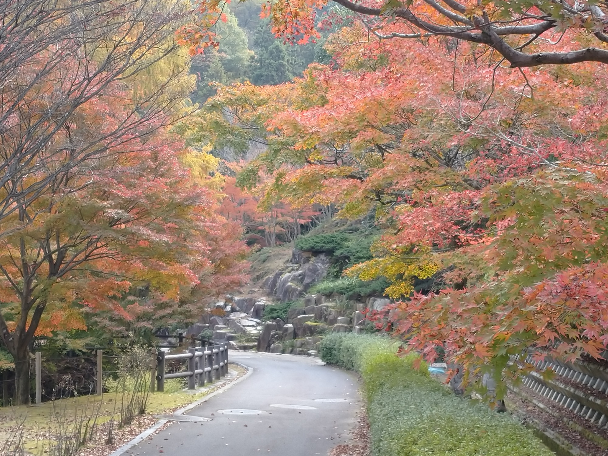
[[353, 374], [303, 356], [231, 351], [230, 359], [253, 373], [187, 412], [211, 421], [173, 423], [123, 455], [325, 456], [350, 441], [361, 408]]

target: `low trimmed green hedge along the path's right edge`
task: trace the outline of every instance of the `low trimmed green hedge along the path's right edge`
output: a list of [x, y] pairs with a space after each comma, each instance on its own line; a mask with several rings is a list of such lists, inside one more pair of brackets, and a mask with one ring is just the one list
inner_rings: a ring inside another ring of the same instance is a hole
[[371, 456], [551, 456], [511, 415], [453, 395], [415, 370], [398, 344], [373, 334], [332, 333], [320, 345], [328, 364], [357, 371], [370, 421]]

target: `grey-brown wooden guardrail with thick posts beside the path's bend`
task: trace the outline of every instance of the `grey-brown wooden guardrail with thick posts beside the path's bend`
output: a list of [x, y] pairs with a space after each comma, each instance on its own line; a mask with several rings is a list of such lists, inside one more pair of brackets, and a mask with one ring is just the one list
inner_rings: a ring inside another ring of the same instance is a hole
[[[165, 361], [170, 359], [185, 359], [188, 367], [184, 372], [165, 372]], [[205, 382], [219, 380], [228, 373], [228, 345], [224, 342], [214, 341], [209, 347], [188, 348], [188, 353], [165, 354], [159, 350], [156, 356], [157, 374], [156, 390], [165, 390], [165, 380], [171, 378], [188, 378], [188, 389], [193, 390], [204, 386]]]

